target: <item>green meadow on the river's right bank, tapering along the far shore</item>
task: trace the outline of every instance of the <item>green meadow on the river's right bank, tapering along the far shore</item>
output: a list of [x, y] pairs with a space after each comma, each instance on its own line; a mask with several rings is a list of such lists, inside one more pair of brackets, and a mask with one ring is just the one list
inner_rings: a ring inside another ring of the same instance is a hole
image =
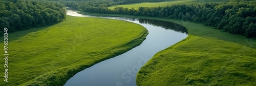
[[175, 19], [80, 13], [158, 19], [188, 29], [186, 39], [157, 53], [140, 69], [137, 85], [256, 85], [256, 39]]

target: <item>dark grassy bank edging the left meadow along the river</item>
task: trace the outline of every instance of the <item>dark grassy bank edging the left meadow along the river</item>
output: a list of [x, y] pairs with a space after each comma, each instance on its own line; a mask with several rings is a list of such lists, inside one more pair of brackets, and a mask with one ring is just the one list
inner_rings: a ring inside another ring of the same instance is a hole
[[85, 63], [85, 64], [82, 63], [84, 60], [80, 60], [75, 63], [72, 63], [71, 64], [72, 66], [62, 67], [62, 68], [56, 69], [55, 71], [49, 72], [47, 74], [40, 75], [22, 85], [64, 85], [76, 73], [84, 69], [87, 69], [89, 67], [92, 67], [93, 65], [103, 60], [113, 58], [115, 56], [118, 56], [122, 53], [125, 53], [133, 49], [134, 47], [139, 46], [141, 42], [146, 38], [147, 34], [148, 34], [147, 30], [144, 30], [141, 32], [141, 35], [139, 37], [126, 42], [124, 45], [114, 48], [115, 50], [106, 51], [94, 56], [94, 57], [101, 57], [106, 54], [112, 53], [108, 56], [104, 56], [101, 59], [97, 59], [97, 60], [94, 60], [93, 62]]

